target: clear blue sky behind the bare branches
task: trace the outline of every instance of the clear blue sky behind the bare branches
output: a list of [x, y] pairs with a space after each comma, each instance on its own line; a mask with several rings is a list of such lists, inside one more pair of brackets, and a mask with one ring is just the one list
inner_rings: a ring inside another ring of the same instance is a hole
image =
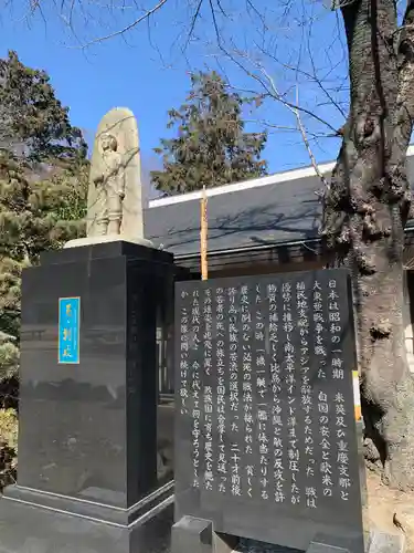
[[[19, 0], [20, 1], [20, 0]], [[257, 0], [257, 6], [266, 1]], [[172, 7], [172, 3], [169, 6]], [[96, 10], [96, 8], [94, 8]], [[41, 17], [31, 20], [30, 25], [22, 22], [21, 13], [13, 14], [12, 23], [4, 20], [1, 24], [1, 55], [7, 50], [15, 50], [26, 65], [44, 69], [49, 72], [52, 84], [64, 105], [70, 106], [71, 121], [73, 124], [86, 131], [86, 136], [91, 143], [95, 128], [100, 117], [114, 106], [127, 106], [135, 113], [140, 132], [141, 150], [144, 164], [148, 168], [157, 166], [157, 159], [152, 148], [158, 145], [160, 137], [168, 134], [166, 131], [167, 111], [170, 107], [178, 107], [185, 97], [189, 88], [189, 71], [219, 66], [225, 72], [232, 84], [242, 88], [251, 88], [256, 83], [241, 72], [233, 62], [223, 59], [214, 50], [214, 31], [209, 14], [200, 20], [197, 30], [198, 40], [189, 44], [185, 54], [178, 46], [177, 38], [188, 29], [184, 12], [177, 12], [177, 9], [166, 8], [158, 14], [150, 27], [142, 24], [134, 33], [128, 34], [126, 40], [115, 38], [110, 41], [99, 43], [86, 50], [76, 48], [78, 43], [73, 34], [66, 33], [64, 25], [53, 13], [46, 13], [47, 24]], [[275, 13], [273, 14], [274, 17]], [[321, 54], [331, 44], [325, 44], [325, 38], [332, 34], [336, 24], [335, 14], [327, 10], [318, 12], [320, 19], [314, 23], [312, 36], [316, 62], [321, 71], [325, 71], [326, 58]], [[123, 19], [125, 18], [125, 19]], [[123, 14], [118, 28], [130, 19], [129, 13]], [[129, 19], [128, 19], [129, 18]], [[308, 14], [307, 14], [308, 18]], [[93, 18], [92, 18], [93, 19]], [[85, 28], [78, 20], [79, 40], [82, 43], [88, 41], [89, 36], [105, 34], [106, 22], [99, 24], [91, 23]], [[282, 24], [277, 20], [277, 24]], [[116, 29], [117, 27], [114, 27]], [[181, 25], [181, 27], [180, 27]], [[331, 25], [331, 29], [328, 27]], [[242, 22], [233, 19], [226, 22], [223, 28], [223, 36], [227, 32], [231, 41], [236, 36], [237, 44], [254, 43], [252, 36], [251, 20]], [[329, 31], [329, 32], [328, 32]], [[285, 33], [277, 45], [278, 55], [286, 61], [298, 59], [298, 33], [300, 22], [297, 28]], [[308, 31], [307, 31], [308, 32]], [[254, 32], [253, 32], [254, 33]], [[257, 32], [256, 39], [257, 39]], [[274, 35], [280, 32], [266, 29], [266, 48], [274, 48]], [[262, 41], [263, 41], [263, 35]], [[302, 39], [302, 36], [301, 36]], [[307, 34], [307, 40], [309, 33]], [[262, 42], [263, 43], [263, 42]], [[180, 42], [182, 44], [182, 41]], [[232, 42], [232, 46], [234, 43]], [[293, 55], [293, 52], [295, 55]], [[309, 65], [307, 56], [300, 54], [306, 61], [305, 69]], [[330, 62], [331, 63], [331, 62]], [[267, 66], [267, 65], [266, 65]], [[341, 71], [343, 67], [341, 69]], [[283, 82], [287, 90], [286, 72], [280, 72], [280, 67], [275, 64], [269, 65], [269, 73]], [[327, 74], [325, 71], [323, 76]], [[333, 86], [338, 81], [338, 71], [328, 72], [328, 80]], [[289, 76], [291, 84], [291, 75]], [[253, 83], [253, 84], [252, 84]], [[310, 112], [315, 105], [321, 102], [320, 90], [309, 83], [300, 85], [300, 102], [306, 104]], [[291, 96], [290, 96], [291, 97]], [[340, 114], [332, 115], [330, 107], [318, 107], [319, 112], [327, 115], [335, 128], [342, 123]], [[318, 113], [319, 113], [318, 112]], [[325, 113], [326, 112], [326, 113]], [[285, 106], [277, 102], [264, 104], [258, 112], [246, 114], [250, 128], [256, 129], [263, 126], [263, 122], [270, 122], [275, 126], [293, 126], [295, 119], [293, 114]], [[304, 122], [310, 132], [316, 129], [314, 123], [307, 115]], [[257, 119], [261, 123], [257, 124]], [[317, 129], [319, 131], [319, 129]], [[309, 157], [298, 134], [284, 132], [283, 129], [269, 128], [269, 140], [266, 147], [265, 157], [269, 164], [272, 173], [286, 170], [300, 165], [309, 165]], [[314, 144], [315, 154], [320, 161], [331, 159], [337, 154], [339, 142], [327, 138], [318, 144]]]

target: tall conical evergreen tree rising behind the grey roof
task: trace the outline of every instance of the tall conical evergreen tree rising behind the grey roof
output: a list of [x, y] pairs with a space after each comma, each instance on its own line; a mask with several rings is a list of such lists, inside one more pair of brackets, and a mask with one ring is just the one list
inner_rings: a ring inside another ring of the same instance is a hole
[[187, 103], [169, 112], [168, 127], [178, 127], [178, 137], [155, 148], [163, 158], [163, 170], [151, 173], [156, 188], [180, 194], [265, 175], [266, 134], [244, 132], [250, 101], [230, 92], [215, 72], [193, 74], [191, 84]]

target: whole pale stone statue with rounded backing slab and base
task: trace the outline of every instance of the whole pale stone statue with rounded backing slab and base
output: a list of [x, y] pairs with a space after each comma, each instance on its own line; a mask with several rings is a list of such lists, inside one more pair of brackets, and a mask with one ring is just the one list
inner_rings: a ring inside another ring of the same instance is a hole
[[86, 238], [65, 248], [113, 240], [152, 246], [144, 238], [142, 184], [137, 121], [115, 107], [100, 121], [91, 159]]

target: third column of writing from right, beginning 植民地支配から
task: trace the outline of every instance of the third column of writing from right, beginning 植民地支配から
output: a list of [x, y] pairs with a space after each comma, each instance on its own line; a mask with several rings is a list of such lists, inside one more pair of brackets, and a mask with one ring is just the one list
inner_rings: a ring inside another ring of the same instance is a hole
[[296, 313], [300, 337], [300, 406], [305, 414], [304, 426], [304, 467], [306, 473], [305, 495], [306, 507], [317, 508], [318, 492], [315, 486], [315, 437], [312, 431], [314, 400], [309, 377], [309, 302], [305, 282], [296, 283]]

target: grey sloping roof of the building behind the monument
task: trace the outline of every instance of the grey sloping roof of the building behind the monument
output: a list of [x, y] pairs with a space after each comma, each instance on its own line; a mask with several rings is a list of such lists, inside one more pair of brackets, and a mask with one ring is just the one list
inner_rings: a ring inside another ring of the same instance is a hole
[[[414, 157], [408, 158], [414, 177]], [[209, 252], [316, 238], [321, 206], [316, 176], [209, 198]], [[176, 255], [200, 251], [200, 200], [145, 210], [146, 238]]]

